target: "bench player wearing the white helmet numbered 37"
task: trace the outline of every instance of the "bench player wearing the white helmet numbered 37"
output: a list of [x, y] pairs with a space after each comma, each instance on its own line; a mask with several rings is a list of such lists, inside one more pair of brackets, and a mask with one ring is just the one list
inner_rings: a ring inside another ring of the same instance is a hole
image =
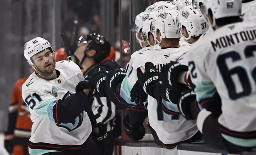
[[[183, 101], [188, 99], [192, 100], [193, 98], [191, 97], [185, 98], [187, 93], [193, 93], [193, 89], [188, 88], [188, 86], [193, 87], [193, 84], [189, 83], [190, 76], [188, 74], [188, 66], [190, 66], [190, 62], [188, 62], [188, 53], [193, 52], [194, 49], [200, 46], [200, 41], [198, 40], [202, 40], [202, 38], [199, 38], [204, 37], [202, 35], [204, 35], [204, 33], [208, 30], [208, 23], [200, 13], [199, 9], [192, 9], [189, 6], [184, 6], [177, 16], [177, 26], [181, 31], [181, 35], [192, 45], [187, 53], [184, 53], [179, 57], [180, 60], [178, 62], [171, 62], [170, 64], [164, 66], [163, 74], [160, 76], [162, 79], [168, 79], [163, 80], [165, 85], [174, 87], [175, 89], [179, 90], [180, 93], [183, 93], [183, 96], [180, 96]], [[169, 90], [167, 91], [167, 98], [169, 97], [172, 102], [175, 102], [175, 100], [173, 100], [174, 95], [169, 92]], [[201, 109], [199, 105], [194, 104], [194, 102], [191, 102], [191, 105], [188, 106], [186, 105], [186, 102], [180, 102], [178, 99], [176, 100], [176, 104], [178, 104], [181, 114], [188, 120], [196, 119]], [[191, 112], [191, 110], [193, 111]], [[192, 114], [193, 116], [191, 116]]]

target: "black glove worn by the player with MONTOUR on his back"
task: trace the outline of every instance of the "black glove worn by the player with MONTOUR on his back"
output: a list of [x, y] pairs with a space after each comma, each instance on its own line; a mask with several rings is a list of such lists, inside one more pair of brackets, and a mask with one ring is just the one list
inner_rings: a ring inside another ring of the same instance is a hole
[[190, 89], [183, 93], [183, 95], [180, 98], [180, 102], [178, 104], [178, 109], [180, 110], [180, 113], [187, 119], [192, 120], [196, 119], [193, 117], [191, 113], [191, 104], [196, 102], [196, 93], [193, 91], [193, 89]]

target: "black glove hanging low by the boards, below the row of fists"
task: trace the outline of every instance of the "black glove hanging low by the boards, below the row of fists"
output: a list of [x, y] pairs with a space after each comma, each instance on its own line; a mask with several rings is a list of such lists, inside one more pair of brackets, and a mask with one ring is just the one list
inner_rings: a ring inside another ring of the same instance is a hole
[[130, 125], [129, 123], [130, 123], [129, 114], [127, 114], [123, 120], [125, 133], [133, 141], [141, 140], [145, 136], [145, 133], [146, 133], [145, 127], [143, 126], [143, 124]]

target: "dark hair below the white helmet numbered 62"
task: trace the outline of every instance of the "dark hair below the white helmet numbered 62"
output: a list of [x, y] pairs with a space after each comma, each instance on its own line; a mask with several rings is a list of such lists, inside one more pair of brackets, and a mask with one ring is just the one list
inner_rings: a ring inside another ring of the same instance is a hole
[[[208, 9], [208, 14], [211, 17], [213, 17], [211, 9]], [[240, 16], [224, 17], [224, 18], [219, 18], [219, 19], [215, 20], [217, 26], [225, 26], [225, 25], [228, 25], [228, 24], [242, 22], [242, 21], [243, 21], [243, 19]]]

